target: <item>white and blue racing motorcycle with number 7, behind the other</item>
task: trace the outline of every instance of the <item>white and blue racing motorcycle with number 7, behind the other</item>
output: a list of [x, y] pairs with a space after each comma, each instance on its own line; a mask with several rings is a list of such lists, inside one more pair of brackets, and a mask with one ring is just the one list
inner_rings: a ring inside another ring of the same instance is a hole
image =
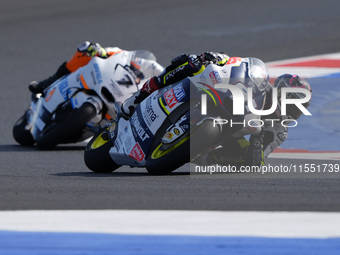
[[43, 94], [32, 94], [30, 106], [13, 127], [13, 136], [21, 145], [36, 143], [40, 149], [84, 141], [115, 117], [114, 103], [124, 102], [163, 69], [145, 50], [94, 57]]

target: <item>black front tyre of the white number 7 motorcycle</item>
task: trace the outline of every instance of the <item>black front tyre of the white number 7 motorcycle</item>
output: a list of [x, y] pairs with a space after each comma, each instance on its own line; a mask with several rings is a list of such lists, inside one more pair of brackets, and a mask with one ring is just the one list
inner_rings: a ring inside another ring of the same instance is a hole
[[61, 143], [76, 142], [75, 137], [79, 137], [86, 123], [95, 116], [95, 107], [85, 103], [61, 121], [49, 123], [37, 138], [37, 146], [40, 149], [52, 149]]

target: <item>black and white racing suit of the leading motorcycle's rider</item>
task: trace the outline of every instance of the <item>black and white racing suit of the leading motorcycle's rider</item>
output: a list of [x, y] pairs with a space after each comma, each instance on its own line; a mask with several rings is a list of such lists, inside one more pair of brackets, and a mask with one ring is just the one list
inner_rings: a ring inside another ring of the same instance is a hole
[[[173, 59], [171, 65], [166, 67], [161, 75], [149, 79], [143, 85], [141, 91], [137, 92], [135, 98], [131, 97], [127, 101], [131, 100], [133, 102], [130, 103], [139, 104], [153, 91], [178, 82], [185, 77], [199, 74], [210, 63], [224, 65], [228, 62], [228, 59], [228, 55], [214, 52], [206, 52], [200, 56], [182, 54]], [[124, 112], [123, 107], [122, 110]], [[221, 146], [205, 154], [196, 163], [204, 165], [233, 164], [237, 166], [264, 165], [264, 158], [287, 138], [287, 128], [281, 126], [280, 122], [274, 122], [273, 126], [271, 124], [270, 122], [269, 126], [265, 125], [259, 134], [252, 134], [249, 140], [244, 137], [236, 137], [224, 141]]]

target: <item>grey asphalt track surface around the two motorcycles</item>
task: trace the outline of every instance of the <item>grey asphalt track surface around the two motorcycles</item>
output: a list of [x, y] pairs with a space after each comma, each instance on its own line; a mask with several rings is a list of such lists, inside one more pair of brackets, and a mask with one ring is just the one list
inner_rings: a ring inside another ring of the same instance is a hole
[[[339, 52], [338, 0], [16, 1], [0, 8], [0, 210], [167, 209], [340, 211], [334, 174], [189, 174], [122, 167], [90, 172], [83, 144], [21, 147], [12, 127], [27, 85], [46, 78], [84, 40], [148, 49], [166, 66], [179, 53], [225, 51], [273, 61]], [[271, 165], [334, 163], [269, 159]]]

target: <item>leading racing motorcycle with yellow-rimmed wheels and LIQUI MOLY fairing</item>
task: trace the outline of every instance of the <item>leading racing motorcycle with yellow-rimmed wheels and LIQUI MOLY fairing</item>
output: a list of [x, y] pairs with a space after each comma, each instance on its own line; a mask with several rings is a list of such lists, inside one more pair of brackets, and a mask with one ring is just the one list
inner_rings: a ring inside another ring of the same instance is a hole
[[[246, 135], [252, 127], [226, 127], [215, 121], [223, 117], [240, 123], [249, 113], [245, 104], [244, 115], [233, 115], [233, 94], [221, 86], [223, 83], [242, 91], [251, 88], [255, 108], [263, 109], [269, 83], [261, 60], [231, 58], [222, 67], [210, 64], [199, 75], [153, 92], [129, 119], [118, 111], [87, 144], [86, 166], [102, 173], [128, 165], [146, 167], [151, 174], [168, 174], [218, 146], [222, 138]], [[202, 114], [203, 94], [211, 96], [206, 114]]]

